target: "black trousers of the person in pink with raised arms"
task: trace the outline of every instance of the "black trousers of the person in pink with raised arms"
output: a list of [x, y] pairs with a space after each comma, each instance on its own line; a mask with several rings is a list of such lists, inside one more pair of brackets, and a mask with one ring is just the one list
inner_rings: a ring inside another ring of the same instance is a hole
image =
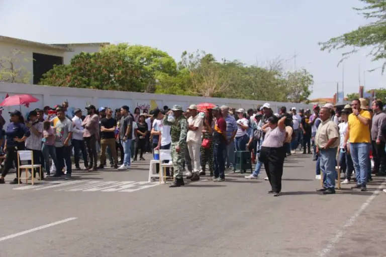
[[272, 191], [275, 193], [281, 191], [284, 157], [284, 147], [261, 147], [259, 161], [264, 164], [264, 169], [267, 173]]

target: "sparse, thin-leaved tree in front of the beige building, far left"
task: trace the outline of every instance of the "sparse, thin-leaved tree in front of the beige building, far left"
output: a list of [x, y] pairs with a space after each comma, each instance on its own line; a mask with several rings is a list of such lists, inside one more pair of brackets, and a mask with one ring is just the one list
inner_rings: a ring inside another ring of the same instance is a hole
[[0, 58], [0, 82], [28, 84], [32, 78], [23, 64], [30, 62], [21, 50], [13, 50], [9, 56]]

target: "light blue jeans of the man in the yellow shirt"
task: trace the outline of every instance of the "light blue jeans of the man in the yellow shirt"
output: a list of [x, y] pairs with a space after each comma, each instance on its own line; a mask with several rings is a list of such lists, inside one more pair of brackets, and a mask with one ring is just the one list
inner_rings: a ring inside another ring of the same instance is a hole
[[355, 169], [356, 183], [366, 186], [369, 164], [370, 145], [368, 143], [350, 143], [350, 153]]

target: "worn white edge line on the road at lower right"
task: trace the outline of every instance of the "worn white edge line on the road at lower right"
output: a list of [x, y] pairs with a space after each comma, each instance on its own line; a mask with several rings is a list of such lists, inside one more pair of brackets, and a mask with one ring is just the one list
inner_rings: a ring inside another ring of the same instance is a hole
[[349, 220], [344, 224], [343, 228], [339, 230], [331, 242], [320, 252], [318, 252], [319, 257], [325, 257], [330, 254], [331, 250], [335, 247], [338, 241], [346, 234], [347, 229], [352, 226], [354, 221], [362, 214], [362, 212], [370, 205], [374, 198], [379, 194], [380, 190], [386, 186], [386, 180], [383, 180], [382, 184], [370, 195], [367, 200], [360, 206], [360, 208], [350, 217]]

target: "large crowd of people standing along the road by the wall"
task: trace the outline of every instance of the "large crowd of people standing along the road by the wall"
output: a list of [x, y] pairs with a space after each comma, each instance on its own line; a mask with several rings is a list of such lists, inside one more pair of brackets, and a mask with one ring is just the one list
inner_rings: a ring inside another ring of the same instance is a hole
[[[225, 170], [236, 165], [235, 153], [249, 151], [256, 165], [245, 178], [257, 179], [264, 166], [265, 180], [271, 184], [268, 193], [278, 196], [284, 159], [301, 149], [303, 154], [313, 155], [316, 179], [324, 174], [323, 188], [318, 191], [335, 193], [336, 166], [345, 175], [343, 184], [351, 183], [355, 171], [353, 188], [365, 191], [371, 173], [386, 175], [382, 133], [386, 114], [382, 106], [381, 101], [374, 101], [369, 109], [365, 99], [356, 99], [344, 108], [334, 108], [330, 103], [322, 108], [315, 105], [314, 113], [295, 107], [288, 112], [281, 107], [274, 113], [269, 103], [247, 111], [225, 105], [199, 111], [192, 104], [186, 110], [174, 105], [171, 109], [144, 109], [142, 113], [137, 107], [131, 113], [126, 105], [115, 110], [88, 105], [84, 116], [81, 109], [68, 113], [68, 102], [63, 102], [54, 108], [30, 111], [26, 119], [15, 110], [10, 112], [6, 128], [0, 115], [0, 146], [5, 156], [0, 184], [5, 183], [10, 169], [17, 169], [20, 150], [33, 152], [34, 164], [42, 165], [44, 177], [65, 175], [65, 179], [71, 179], [71, 155], [76, 170], [81, 169], [80, 159], [83, 170], [90, 172], [105, 168], [107, 159], [111, 168], [126, 170], [131, 162], [144, 161], [145, 153], [170, 149], [174, 176], [170, 187], [184, 185], [186, 169], [185, 179], [191, 181], [207, 175], [207, 167], [215, 182], [224, 181]], [[18, 174], [11, 181], [17, 183]]]

